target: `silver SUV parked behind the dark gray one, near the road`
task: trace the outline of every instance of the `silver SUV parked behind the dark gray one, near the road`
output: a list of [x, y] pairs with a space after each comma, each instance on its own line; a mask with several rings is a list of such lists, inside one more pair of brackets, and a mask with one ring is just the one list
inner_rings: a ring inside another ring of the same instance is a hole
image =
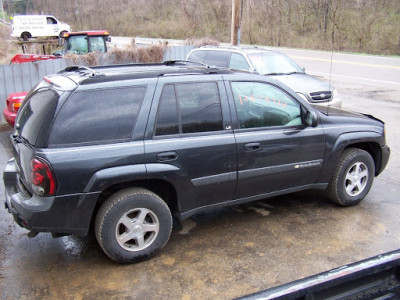
[[193, 49], [186, 59], [273, 76], [311, 104], [342, 107], [342, 100], [330, 83], [306, 74], [303, 68], [281, 52], [258, 47], [204, 46]]

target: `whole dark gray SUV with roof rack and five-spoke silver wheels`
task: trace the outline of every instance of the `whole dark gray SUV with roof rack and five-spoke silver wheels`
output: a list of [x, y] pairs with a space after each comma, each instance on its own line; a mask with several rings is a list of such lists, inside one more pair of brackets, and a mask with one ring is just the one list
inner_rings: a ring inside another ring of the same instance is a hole
[[30, 236], [93, 225], [120, 263], [160, 251], [173, 216], [306, 189], [355, 205], [390, 154], [372, 116], [326, 115], [268, 77], [184, 62], [47, 76], [11, 139], [3, 178], [15, 221]]

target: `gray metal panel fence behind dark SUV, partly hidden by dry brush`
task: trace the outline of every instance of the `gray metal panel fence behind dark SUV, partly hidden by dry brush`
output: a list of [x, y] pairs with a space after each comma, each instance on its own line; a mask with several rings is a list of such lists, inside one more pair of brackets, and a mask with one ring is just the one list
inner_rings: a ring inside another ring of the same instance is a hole
[[[193, 48], [193, 46], [168, 47], [164, 51], [164, 60], [185, 59]], [[6, 107], [7, 95], [29, 91], [44, 76], [56, 73], [65, 67], [67, 62], [64, 59], [0, 66], [0, 123], [5, 124], [2, 111]]]

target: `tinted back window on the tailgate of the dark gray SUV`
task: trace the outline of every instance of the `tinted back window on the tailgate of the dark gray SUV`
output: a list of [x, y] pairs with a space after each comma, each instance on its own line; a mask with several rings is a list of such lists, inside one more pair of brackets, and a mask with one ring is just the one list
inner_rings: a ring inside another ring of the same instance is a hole
[[30, 144], [44, 147], [58, 99], [59, 95], [51, 89], [41, 89], [25, 99], [15, 124], [20, 135]]

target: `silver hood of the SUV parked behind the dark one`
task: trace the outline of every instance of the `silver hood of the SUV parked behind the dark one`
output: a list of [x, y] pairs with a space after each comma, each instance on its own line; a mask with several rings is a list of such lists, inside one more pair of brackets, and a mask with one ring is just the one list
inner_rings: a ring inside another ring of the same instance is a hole
[[296, 93], [309, 96], [310, 93], [332, 91], [334, 88], [326, 81], [322, 81], [308, 74], [271, 75], [272, 78], [290, 87]]

